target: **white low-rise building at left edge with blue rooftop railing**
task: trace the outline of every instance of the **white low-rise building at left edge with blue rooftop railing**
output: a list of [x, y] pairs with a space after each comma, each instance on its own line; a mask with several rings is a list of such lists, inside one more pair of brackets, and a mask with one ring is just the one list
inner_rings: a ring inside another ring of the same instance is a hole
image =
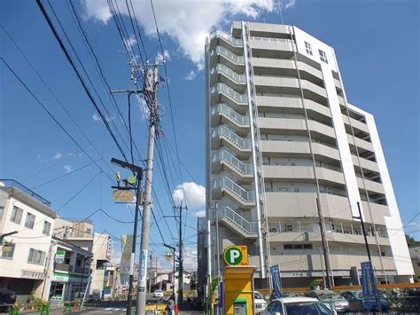
[[51, 202], [12, 179], [0, 180], [0, 234], [8, 246], [0, 252], [0, 288], [16, 293], [19, 303], [30, 295], [46, 299], [46, 256], [56, 212]]

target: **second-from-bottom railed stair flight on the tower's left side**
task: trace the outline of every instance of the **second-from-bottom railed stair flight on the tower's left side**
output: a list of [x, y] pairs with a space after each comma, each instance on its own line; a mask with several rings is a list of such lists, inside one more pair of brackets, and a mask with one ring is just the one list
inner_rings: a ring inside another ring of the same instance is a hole
[[215, 178], [212, 187], [213, 199], [221, 199], [226, 193], [231, 200], [238, 202], [241, 208], [255, 207], [255, 192], [245, 190], [229, 177]]

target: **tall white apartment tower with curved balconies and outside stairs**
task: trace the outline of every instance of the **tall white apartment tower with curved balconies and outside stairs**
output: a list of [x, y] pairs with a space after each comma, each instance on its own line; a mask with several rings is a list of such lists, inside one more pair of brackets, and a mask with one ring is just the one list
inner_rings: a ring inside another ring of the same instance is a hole
[[412, 281], [374, 118], [348, 103], [334, 49], [293, 26], [235, 21], [230, 34], [214, 31], [206, 41], [214, 262], [223, 267], [224, 248], [247, 245], [255, 287], [274, 264], [286, 287], [322, 279], [325, 265], [332, 285], [355, 284], [368, 261], [358, 203], [377, 280]]

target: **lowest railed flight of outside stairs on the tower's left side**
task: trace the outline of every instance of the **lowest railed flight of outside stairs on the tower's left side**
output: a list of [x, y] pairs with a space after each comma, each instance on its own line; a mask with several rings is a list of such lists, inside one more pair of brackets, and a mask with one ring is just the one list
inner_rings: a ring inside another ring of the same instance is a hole
[[257, 237], [258, 224], [257, 222], [249, 222], [245, 217], [240, 216], [235, 210], [229, 207], [219, 209], [219, 220], [227, 224], [230, 229], [238, 232], [243, 237], [248, 238]]

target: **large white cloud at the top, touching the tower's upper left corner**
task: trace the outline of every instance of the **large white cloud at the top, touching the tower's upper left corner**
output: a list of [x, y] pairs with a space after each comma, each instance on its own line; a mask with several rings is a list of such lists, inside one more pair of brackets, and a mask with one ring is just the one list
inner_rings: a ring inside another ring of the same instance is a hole
[[[112, 18], [106, 0], [83, 0], [82, 4], [88, 19], [106, 24]], [[156, 36], [150, 2], [133, 0], [133, 6], [144, 33]], [[274, 9], [273, 0], [154, 0], [153, 6], [160, 35], [167, 35], [174, 40], [183, 55], [191, 59], [198, 70], [204, 67], [204, 45], [210, 30], [226, 26], [226, 21], [238, 14], [252, 20], [259, 17], [261, 12], [272, 12]], [[122, 2], [120, 11], [128, 15], [127, 6], [122, 5]]]

